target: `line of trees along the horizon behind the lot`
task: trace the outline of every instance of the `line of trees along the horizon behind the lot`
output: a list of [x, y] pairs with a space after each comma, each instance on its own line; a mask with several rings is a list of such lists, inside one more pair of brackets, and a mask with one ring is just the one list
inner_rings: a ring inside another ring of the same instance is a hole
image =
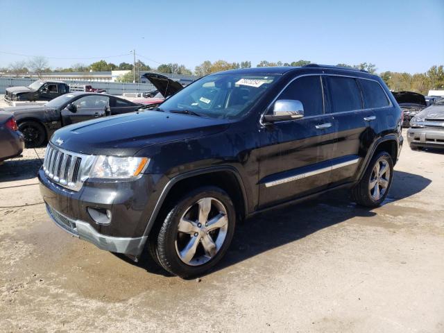
[[[267, 60], [262, 60], [256, 67], [275, 67], [275, 66], [305, 66], [309, 65], [311, 62], [309, 60], [298, 60], [293, 62], [269, 62]], [[178, 63], [168, 63], [160, 64], [157, 67], [150, 67], [146, 65], [141, 60], [137, 60], [135, 64], [136, 71], [157, 71], [166, 74], [185, 74], [185, 75], [196, 75], [205, 76], [208, 74], [215, 73], [217, 71], [225, 71], [228, 69], [239, 69], [239, 68], [250, 68], [252, 67], [250, 61], [242, 62], [228, 62], [225, 60], [216, 60], [211, 62], [206, 60], [200, 65], [194, 68], [194, 71], [185, 67], [185, 65], [179, 65]], [[375, 64], [361, 62], [358, 65], [348, 65], [344, 63], [337, 64], [337, 66], [348, 67], [353, 69], [364, 69], [370, 74], [376, 74], [377, 67]], [[50, 72], [88, 72], [88, 71], [116, 71], [116, 70], [129, 70], [134, 71], [134, 65], [128, 62], [121, 62], [116, 65], [112, 62], [106, 62], [105, 60], [99, 60], [93, 62], [90, 65], [85, 65], [77, 63], [71, 67], [62, 68], [56, 67], [51, 69], [46, 58], [39, 56], [34, 57], [28, 62], [17, 61], [10, 64], [8, 67], [0, 68], [0, 72], [12, 74], [15, 76], [24, 76], [29, 72], [37, 74], [37, 76], [43, 73]], [[425, 73], [409, 74], [407, 72], [395, 72], [395, 71], [384, 71], [379, 74], [384, 80], [386, 85], [393, 91], [411, 91], [418, 92], [420, 94], [427, 94], [430, 89], [444, 89], [444, 69], [443, 65], [435, 65], [430, 67]], [[136, 80], [138, 80], [136, 75]], [[133, 73], [128, 73], [119, 78], [120, 82], [133, 82]]]

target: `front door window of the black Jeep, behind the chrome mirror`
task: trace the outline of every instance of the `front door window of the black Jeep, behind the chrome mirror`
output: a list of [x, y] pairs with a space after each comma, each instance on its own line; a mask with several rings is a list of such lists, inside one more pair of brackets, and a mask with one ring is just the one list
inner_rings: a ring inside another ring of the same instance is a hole
[[285, 88], [278, 99], [295, 99], [304, 105], [304, 117], [324, 113], [321, 76], [302, 76], [296, 78]]

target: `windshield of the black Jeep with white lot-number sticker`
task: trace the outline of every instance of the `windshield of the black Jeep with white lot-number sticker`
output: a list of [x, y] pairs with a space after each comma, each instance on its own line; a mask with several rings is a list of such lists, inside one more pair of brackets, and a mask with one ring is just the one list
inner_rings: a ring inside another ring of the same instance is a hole
[[160, 105], [160, 110], [220, 119], [242, 117], [278, 76], [214, 74], [185, 87]]

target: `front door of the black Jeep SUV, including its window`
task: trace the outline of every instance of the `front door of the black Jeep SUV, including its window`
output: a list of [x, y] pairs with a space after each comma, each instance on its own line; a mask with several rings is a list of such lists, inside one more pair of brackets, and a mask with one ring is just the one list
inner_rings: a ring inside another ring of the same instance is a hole
[[302, 102], [304, 117], [261, 129], [259, 208], [322, 191], [330, 182], [332, 117], [324, 112], [321, 76], [301, 76], [278, 96]]

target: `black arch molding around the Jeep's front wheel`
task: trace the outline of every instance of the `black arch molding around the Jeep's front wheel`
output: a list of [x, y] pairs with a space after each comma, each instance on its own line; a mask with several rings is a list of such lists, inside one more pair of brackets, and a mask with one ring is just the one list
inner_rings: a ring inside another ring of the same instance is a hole
[[151, 217], [148, 220], [148, 223], [146, 224], [146, 228], [145, 228], [145, 231], [144, 231], [144, 234], [142, 237], [142, 241], [140, 242], [139, 247], [138, 247], [138, 253], [134, 258], [136, 262], [137, 262], [139, 256], [142, 255], [142, 251], [144, 249], [146, 239], [148, 239], [148, 234], [151, 231], [151, 228], [153, 228], [155, 220], [157, 219], [157, 214], [159, 214], [160, 208], [162, 207], [165, 198], [167, 198], [169, 191], [173, 188], [173, 186], [177, 182], [179, 182], [180, 180], [204, 175], [205, 173], [217, 172], [217, 171], [228, 171], [236, 177], [237, 182], [239, 183], [239, 187], [241, 188], [242, 197], [244, 198], [244, 211], [246, 212], [246, 215], [248, 214], [248, 198], [246, 195], [244, 182], [242, 181], [242, 178], [236, 168], [231, 167], [229, 165], [225, 165], [225, 166], [219, 166], [219, 167], [208, 167], [208, 168], [204, 168], [204, 169], [198, 169], [198, 170], [189, 171], [186, 173], [181, 173], [180, 175], [173, 177], [173, 178], [171, 178], [171, 180], [169, 180], [167, 185], [162, 190], [162, 193], [160, 194], [159, 198], [157, 199], [157, 203], [155, 204], [154, 210], [151, 213]]

